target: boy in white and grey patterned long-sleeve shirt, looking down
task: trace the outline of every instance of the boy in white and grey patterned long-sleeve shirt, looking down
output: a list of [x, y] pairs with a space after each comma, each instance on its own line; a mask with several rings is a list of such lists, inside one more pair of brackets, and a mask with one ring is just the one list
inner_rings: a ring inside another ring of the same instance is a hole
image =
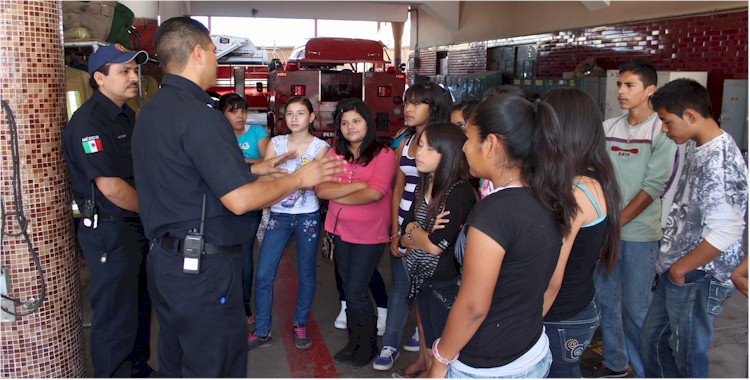
[[713, 119], [703, 86], [677, 79], [652, 102], [662, 131], [686, 143], [686, 155], [641, 330], [641, 357], [646, 377], [708, 377], [713, 321], [734, 291], [731, 275], [744, 257], [747, 166]]

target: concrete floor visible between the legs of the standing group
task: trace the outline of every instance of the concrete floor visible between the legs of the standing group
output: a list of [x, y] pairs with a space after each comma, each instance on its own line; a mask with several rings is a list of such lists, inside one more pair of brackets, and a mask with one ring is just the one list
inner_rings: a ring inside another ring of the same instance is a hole
[[[293, 317], [296, 291], [296, 256], [294, 244], [288, 246], [277, 275], [274, 320], [272, 333], [274, 344], [268, 348], [257, 348], [248, 353], [248, 377], [251, 378], [291, 378], [291, 377], [344, 377], [382, 378], [391, 377], [392, 371], [376, 371], [372, 366], [355, 370], [346, 365], [336, 365], [331, 356], [346, 344], [346, 331], [336, 329], [333, 321], [339, 313], [340, 304], [333, 273], [333, 264], [318, 260], [318, 288], [313, 302], [308, 324], [308, 334], [313, 337], [313, 348], [297, 350], [291, 338], [291, 318]], [[255, 249], [257, 263], [257, 246]], [[390, 283], [390, 264], [387, 252], [381, 257], [378, 269]], [[83, 283], [87, 282], [86, 271], [82, 271]], [[288, 288], [288, 289], [287, 289]], [[84, 326], [91, 320], [88, 288], [83, 288]], [[291, 311], [290, 311], [291, 310]], [[156, 360], [156, 336], [158, 325], [154, 317], [152, 328], [152, 367], [158, 368]], [[714, 339], [709, 349], [709, 375], [712, 378], [747, 378], [748, 374], [748, 302], [735, 292], [725, 303], [724, 311], [714, 326]], [[253, 326], [250, 326], [253, 329]], [[413, 313], [409, 318], [405, 335], [414, 330]], [[93, 374], [89, 354], [90, 329], [84, 329], [86, 337], [86, 358], [89, 376]], [[591, 347], [584, 353], [582, 367], [599, 362], [601, 341], [595, 337]], [[404, 367], [416, 359], [416, 353], [401, 351], [394, 370]]]

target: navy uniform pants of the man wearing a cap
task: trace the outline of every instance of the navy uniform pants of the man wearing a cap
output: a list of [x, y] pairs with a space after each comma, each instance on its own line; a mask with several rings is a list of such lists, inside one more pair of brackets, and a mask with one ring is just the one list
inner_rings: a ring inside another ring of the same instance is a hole
[[[148, 350], [133, 353], [140, 334], [148, 342], [150, 335], [150, 304], [148, 321], [139, 324], [138, 275], [148, 240], [139, 222], [99, 221], [96, 229], [80, 225], [78, 242], [89, 268], [91, 291], [91, 361], [94, 377], [130, 377], [131, 360], [148, 360]], [[141, 293], [148, 302], [148, 294]]]

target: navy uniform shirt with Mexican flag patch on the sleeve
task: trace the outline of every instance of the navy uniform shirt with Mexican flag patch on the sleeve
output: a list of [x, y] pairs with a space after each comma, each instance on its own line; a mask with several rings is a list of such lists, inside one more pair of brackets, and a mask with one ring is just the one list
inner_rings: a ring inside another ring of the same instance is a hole
[[[91, 184], [96, 177], [119, 177], [135, 187], [130, 152], [134, 122], [135, 113], [127, 104], [118, 107], [99, 91], [94, 91], [73, 114], [62, 134], [62, 148], [79, 209], [91, 199]], [[100, 213], [138, 216], [115, 206], [98, 189], [95, 194]]]

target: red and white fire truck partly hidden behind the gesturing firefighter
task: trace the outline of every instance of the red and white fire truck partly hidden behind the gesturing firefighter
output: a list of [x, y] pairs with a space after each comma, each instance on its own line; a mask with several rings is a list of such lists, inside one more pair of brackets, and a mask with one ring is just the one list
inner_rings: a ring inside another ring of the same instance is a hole
[[253, 124], [265, 124], [269, 111], [267, 83], [269, 66], [280, 65], [279, 49], [259, 49], [248, 38], [213, 35], [216, 45], [216, 85], [206, 91], [217, 100], [221, 95], [236, 92], [249, 104]]

